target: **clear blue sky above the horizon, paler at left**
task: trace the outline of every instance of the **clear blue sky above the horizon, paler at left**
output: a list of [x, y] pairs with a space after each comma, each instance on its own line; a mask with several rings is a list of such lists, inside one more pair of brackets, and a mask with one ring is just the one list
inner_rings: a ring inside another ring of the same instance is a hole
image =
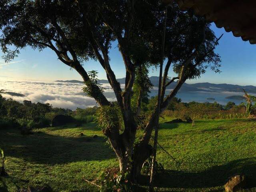
[[[249, 42], [242, 41], [241, 38], [234, 37], [232, 33], [225, 32], [223, 28], [216, 28], [215, 24], [212, 24], [212, 29], [216, 36], [224, 33], [220, 45], [216, 48], [216, 52], [220, 54], [222, 59], [222, 72], [215, 74], [208, 70], [201, 78], [187, 81], [187, 83], [211, 82], [256, 86], [256, 45], [251, 45]], [[116, 77], [124, 77], [124, 64], [116, 46], [113, 46], [110, 58]], [[106, 79], [105, 72], [98, 62], [88, 61], [84, 64], [84, 68], [87, 71], [98, 70], [99, 79]], [[70, 70], [68, 66], [60, 62], [51, 50], [46, 49], [38, 52], [38, 50], [31, 48], [22, 50], [19, 57], [10, 64], [5, 64], [4, 60], [0, 59], [1, 76], [17, 80], [81, 80], [77, 72]], [[152, 68], [150, 76], [158, 76], [158, 70]], [[172, 73], [169, 76], [172, 76]]]

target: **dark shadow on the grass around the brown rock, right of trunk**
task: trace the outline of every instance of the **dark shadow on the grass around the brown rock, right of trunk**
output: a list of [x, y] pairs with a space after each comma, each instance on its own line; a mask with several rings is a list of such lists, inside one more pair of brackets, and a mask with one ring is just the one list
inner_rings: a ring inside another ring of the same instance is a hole
[[[165, 170], [156, 175], [155, 186], [183, 189], [212, 188], [224, 186], [230, 176], [240, 173], [246, 175], [248, 188], [256, 187], [256, 158], [234, 160], [220, 166], [212, 166], [203, 172]], [[148, 176], [142, 176], [140, 183], [148, 186], [148, 180]]]

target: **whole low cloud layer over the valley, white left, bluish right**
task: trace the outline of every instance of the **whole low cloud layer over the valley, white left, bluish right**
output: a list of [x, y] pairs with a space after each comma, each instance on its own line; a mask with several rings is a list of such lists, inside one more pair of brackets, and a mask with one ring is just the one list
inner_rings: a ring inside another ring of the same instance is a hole
[[[82, 83], [69, 83], [69, 82], [42, 82], [31, 80], [14, 80], [10, 78], [0, 77], [0, 90], [4, 89], [8, 92], [15, 92], [24, 94], [24, 97], [10, 96], [2, 94], [5, 98], [13, 98], [18, 102], [23, 100], [30, 100], [32, 102], [50, 103], [53, 107], [68, 108], [75, 110], [76, 108], [88, 108], [97, 106], [94, 98], [86, 96], [82, 92]], [[105, 88], [104, 95], [109, 101], [115, 101], [116, 96], [110, 84], [101, 84]], [[124, 84], [121, 84], [124, 89]], [[166, 94], [171, 89], [166, 90]], [[154, 87], [149, 96], [157, 95], [157, 87]], [[177, 97], [182, 99], [182, 102], [209, 102], [207, 98], [215, 98], [214, 101], [225, 105], [230, 100], [226, 99], [227, 96], [243, 95], [242, 92], [209, 92], [202, 89], [200, 92], [182, 92], [178, 93]], [[254, 94], [253, 94], [254, 95]], [[256, 94], [255, 94], [256, 95]], [[232, 100], [236, 104], [240, 104], [241, 100]]]

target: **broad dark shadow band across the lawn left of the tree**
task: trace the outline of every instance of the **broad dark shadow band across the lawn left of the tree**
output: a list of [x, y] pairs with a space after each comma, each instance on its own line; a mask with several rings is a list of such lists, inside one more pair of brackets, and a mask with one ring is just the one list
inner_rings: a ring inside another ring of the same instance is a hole
[[115, 158], [113, 150], [106, 144], [106, 138], [103, 136], [67, 138], [44, 132], [22, 136], [18, 131], [10, 130], [0, 139], [4, 143], [6, 156], [38, 164], [66, 164]]

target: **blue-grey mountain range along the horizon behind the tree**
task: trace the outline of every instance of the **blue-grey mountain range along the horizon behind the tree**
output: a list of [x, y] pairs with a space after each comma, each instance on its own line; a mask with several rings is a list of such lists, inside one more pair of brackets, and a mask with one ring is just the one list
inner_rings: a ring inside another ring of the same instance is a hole
[[[158, 77], [151, 76], [150, 80], [154, 86], [158, 86]], [[117, 79], [120, 84], [125, 84], [125, 78]], [[78, 80], [66, 80], [61, 81], [58, 80], [56, 82], [69, 82], [69, 83], [83, 83]], [[108, 80], [99, 80], [99, 83], [108, 83]], [[173, 89], [176, 86], [177, 82], [173, 82], [170, 84], [167, 89]], [[243, 89], [248, 93], [256, 93], [256, 86], [248, 85], [248, 86], [240, 86], [240, 85], [232, 85], [232, 84], [214, 84], [214, 83], [195, 83], [195, 84], [187, 84], [184, 83], [179, 92], [243, 92]]]

